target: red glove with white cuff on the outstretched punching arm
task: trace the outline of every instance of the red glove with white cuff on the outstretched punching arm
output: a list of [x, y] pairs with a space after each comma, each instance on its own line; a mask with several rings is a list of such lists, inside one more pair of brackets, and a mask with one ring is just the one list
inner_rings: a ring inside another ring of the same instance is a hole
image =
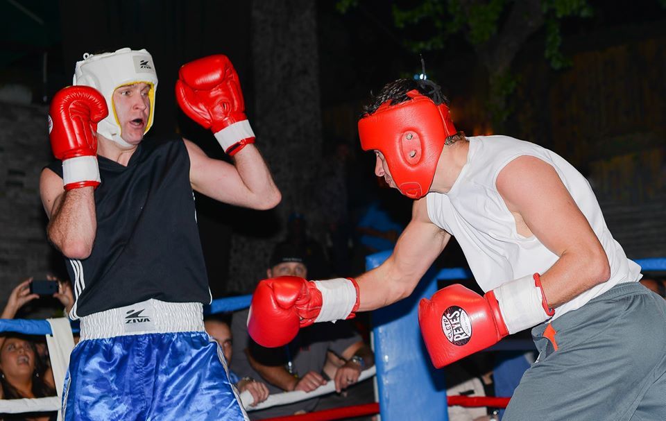
[[301, 327], [354, 317], [358, 291], [351, 278], [308, 281], [281, 276], [263, 280], [252, 296], [248, 333], [264, 347], [287, 345]]

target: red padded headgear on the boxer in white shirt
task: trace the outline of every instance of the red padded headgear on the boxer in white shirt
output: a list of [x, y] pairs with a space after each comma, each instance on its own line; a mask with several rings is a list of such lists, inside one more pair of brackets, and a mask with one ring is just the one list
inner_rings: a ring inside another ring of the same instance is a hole
[[445, 103], [435, 105], [416, 89], [407, 96], [412, 99], [396, 105], [386, 101], [359, 120], [359, 137], [364, 151], [384, 155], [402, 194], [418, 199], [429, 191], [444, 142], [456, 128]]

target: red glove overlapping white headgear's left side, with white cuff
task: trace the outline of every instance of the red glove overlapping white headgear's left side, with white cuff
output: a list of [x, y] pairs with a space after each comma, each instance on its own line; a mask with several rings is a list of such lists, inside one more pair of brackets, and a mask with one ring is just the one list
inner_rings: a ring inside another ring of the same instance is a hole
[[66, 190], [97, 187], [97, 123], [109, 114], [96, 89], [69, 86], [53, 96], [49, 109], [49, 137], [53, 156], [62, 161]]

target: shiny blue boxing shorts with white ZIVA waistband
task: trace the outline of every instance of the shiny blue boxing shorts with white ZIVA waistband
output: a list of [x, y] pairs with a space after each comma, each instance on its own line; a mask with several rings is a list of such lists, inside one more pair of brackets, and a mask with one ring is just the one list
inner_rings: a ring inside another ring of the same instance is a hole
[[200, 303], [147, 300], [81, 318], [65, 421], [248, 420]]

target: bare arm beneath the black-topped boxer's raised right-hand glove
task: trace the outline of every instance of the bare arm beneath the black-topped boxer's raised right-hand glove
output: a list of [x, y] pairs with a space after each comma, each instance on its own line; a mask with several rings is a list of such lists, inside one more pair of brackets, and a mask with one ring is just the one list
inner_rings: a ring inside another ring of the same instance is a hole
[[184, 139], [191, 162], [189, 180], [201, 194], [231, 205], [271, 209], [282, 196], [264, 158], [253, 144], [233, 157], [235, 164], [208, 157], [196, 144]]

